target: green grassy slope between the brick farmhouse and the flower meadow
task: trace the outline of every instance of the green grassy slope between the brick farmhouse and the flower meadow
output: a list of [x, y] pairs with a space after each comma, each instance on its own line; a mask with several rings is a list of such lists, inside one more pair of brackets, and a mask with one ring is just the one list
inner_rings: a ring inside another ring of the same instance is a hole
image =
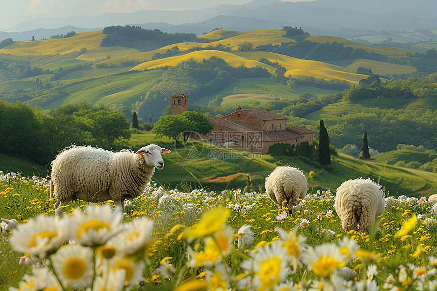
[[[272, 157], [271, 155], [254, 155], [249, 158], [229, 158], [230, 153], [239, 157], [241, 152], [224, 148], [208, 148], [206, 143], [189, 141], [189, 148], [174, 144], [166, 138], [156, 138], [154, 134], [141, 132], [133, 134], [129, 148], [137, 150], [140, 147], [155, 143], [170, 149], [172, 152], [164, 157], [165, 168], [155, 171], [153, 180], [169, 188], [212, 187], [244, 188], [249, 175], [254, 189], [263, 190], [264, 178], [280, 165], [291, 165], [299, 168], [308, 179], [309, 191], [330, 189], [332, 192], [344, 181], [359, 177], [371, 178], [385, 187], [391, 195], [429, 196], [437, 193], [437, 173], [429, 173], [414, 169], [399, 168], [384, 164], [366, 163], [348, 155], [332, 156], [333, 171], [324, 170], [319, 164], [302, 160], [298, 157]], [[195, 146], [200, 155], [187, 159], [190, 146]], [[5, 165], [13, 171], [23, 172], [23, 175], [36, 173], [29, 160], [1, 155]], [[3, 164], [2, 164], [3, 165]], [[8, 168], [5, 166], [5, 170]], [[22, 170], [20, 170], [22, 169]], [[309, 172], [314, 171], [314, 177]], [[38, 171], [39, 173], [40, 171]], [[42, 172], [42, 171], [41, 171]]]

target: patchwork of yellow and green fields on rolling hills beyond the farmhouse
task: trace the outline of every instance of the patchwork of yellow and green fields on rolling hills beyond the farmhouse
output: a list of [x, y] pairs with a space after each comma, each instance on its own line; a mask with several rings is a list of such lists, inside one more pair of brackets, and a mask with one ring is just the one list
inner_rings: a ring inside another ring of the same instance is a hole
[[[50, 84], [52, 88], [55, 87], [67, 93], [67, 96], [63, 98], [53, 99], [52, 102], [48, 101], [42, 104], [44, 110], [85, 100], [92, 104], [104, 103], [116, 106], [122, 109], [128, 118], [131, 118], [131, 110], [135, 104], [145, 98], [148, 90], [159, 84], [166, 69], [177, 66], [188, 59], [202, 61], [214, 56], [224, 59], [233, 68], [241, 65], [247, 68], [261, 67], [270, 73], [276, 70], [274, 66], [282, 66], [286, 69], [285, 76], [296, 80], [316, 78], [327, 82], [347, 81], [351, 86], [357, 85], [361, 79], [368, 77], [357, 74], [358, 67], [371, 69], [373, 73], [381, 76], [411, 74], [417, 71], [412, 66], [366, 58], [320, 61], [300, 59], [270, 51], [240, 50], [240, 46], [244, 44], [251, 44], [255, 48], [263, 45], [280, 45], [282, 43], [292, 45], [311, 41], [320, 44], [341, 43], [345, 47], [363, 49], [369, 53], [395, 59], [415, 53], [412, 50], [371, 46], [339, 37], [321, 35], [285, 37], [285, 31], [282, 29], [248, 31], [216, 29], [198, 37], [198, 42], [175, 43], [145, 52], [128, 47], [102, 47], [101, 43], [105, 36], [103, 30], [87, 31], [65, 39], [16, 42], [0, 49], [0, 58], [2, 55], [9, 58], [23, 58], [29, 61], [30, 66], [38, 64], [43, 70], [50, 70], [50, 73], [60, 67], [64, 69], [74, 68], [74, 66], [86, 63], [92, 65], [92, 67], [88, 66], [85, 69], [72, 69], [55, 81], [51, 81], [52, 76], [49, 74], [12, 80], [17, 74], [2, 70], [0, 71], [0, 93], [20, 88], [28, 91], [35, 90], [35, 82], [38, 78], [42, 83]], [[261, 62], [261, 59], [267, 59], [272, 65]], [[317, 87], [317, 84], [314, 83], [309, 84], [309, 86], [305, 83], [292, 88], [274, 79], [248, 77], [235, 79], [220, 90], [205, 93], [197, 103], [207, 105], [216, 95], [221, 95], [224, 98], [223, 106], [253, 105], [275, 98], [297, 100], [299, 95], [304, 92], [316, 94], [320, 98], [326, 94], [340, 91], [326, 86]], [[235, 88], [238, 88], [238, 91], [235, 91]], [[172, 93], [175, 92], [168, 92], [168, 94]], [[350, 102], [331, 104], [320, 111], [309, 113], [306, 118], [315, 120], [344, 114], [351, 110], [354, 104]], [[363, 100], [359, 104], [381, 108], [390, 108], [391, 106], [407, 108], [408, 110], [435, 109], [436, 106], [432, 100], [398, 100], [385, 103]], [[164, 109], [162, 105], [160, 106], [156, 110], [158, 116], [159, 112]]]

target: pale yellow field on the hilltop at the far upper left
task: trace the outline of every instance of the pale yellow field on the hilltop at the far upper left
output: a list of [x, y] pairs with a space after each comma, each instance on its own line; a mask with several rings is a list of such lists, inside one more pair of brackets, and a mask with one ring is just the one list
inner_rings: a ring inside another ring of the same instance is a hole
[[92, 60], [96, 58], [118, 57], [126, 53], [137, 53], [139, 50], [133, 48], [101, 47], [102, 40], [106, 35], [103, 30], [87, 31], [77, 33], [66, 39], [53, 39], [42, 41], [16, 42], [6, 48], [0, 49], [0, 53], [13, 55], [42, 55], [42, 54], [66, 54], [86, 48], [86, 52], [78, 57], [82, 60]]

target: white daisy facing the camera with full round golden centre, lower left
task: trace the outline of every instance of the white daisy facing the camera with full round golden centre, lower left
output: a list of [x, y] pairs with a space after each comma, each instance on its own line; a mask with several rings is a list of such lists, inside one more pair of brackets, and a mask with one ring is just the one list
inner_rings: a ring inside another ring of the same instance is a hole
[[71, 288], [89, 285], [92, 280], [92, 250], [80, 245], [61, 247], [50, 257], [59, 280]]

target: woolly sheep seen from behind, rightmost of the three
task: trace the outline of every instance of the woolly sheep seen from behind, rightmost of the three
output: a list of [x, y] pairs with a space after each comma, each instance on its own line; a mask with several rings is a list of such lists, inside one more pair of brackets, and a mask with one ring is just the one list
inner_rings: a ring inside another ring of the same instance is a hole
[[341, 227], [348, 231], [359, 225], [362, 233], [383, 215], [386, 205], [381, 185], [363, 178], [343, 182], [337, 188], [334, 201]]

